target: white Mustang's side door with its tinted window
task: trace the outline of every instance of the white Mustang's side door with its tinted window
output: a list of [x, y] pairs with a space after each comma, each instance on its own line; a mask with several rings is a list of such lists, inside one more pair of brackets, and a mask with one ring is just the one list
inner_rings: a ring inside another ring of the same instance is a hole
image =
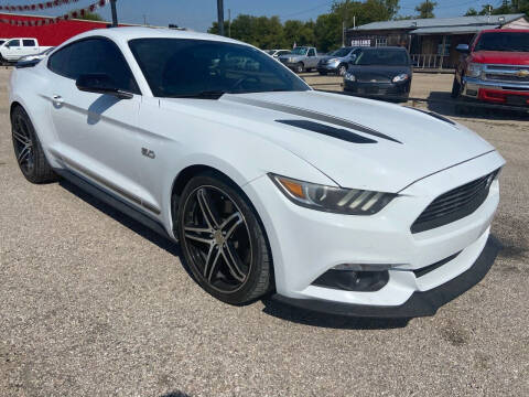
[[[47, 65], [50, 111], [58, 138], [54, 151], [71, 171], [143, 206], [149, 200], [139, 183], [137, 130], [142, 97], [118, 46], [105, 37], [80, 40], [55, 52]], [[76, 79], [86, 74], [106, 74], [131, 98], [79, 90]]]

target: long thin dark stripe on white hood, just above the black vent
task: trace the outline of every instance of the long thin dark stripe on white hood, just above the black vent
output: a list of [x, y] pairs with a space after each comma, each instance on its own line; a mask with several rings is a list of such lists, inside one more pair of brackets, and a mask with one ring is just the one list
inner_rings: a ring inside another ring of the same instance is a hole
[[381, 138], [381, 139], [386, 139], [386, 140], [402, 144], [401, 141], [399, 141], [395, 138], [388, 137], [387, 135], [385, 135], [382, 132], [375, 131], [374, 129], [371, 129], [369, 127], [365, 127], [365, 126], [361, 126], [361, 125], [353, 122], [353, 121], [344, 120], [344, 119], [338, 118], [338, 117], [321, 114], [319, 111], [312, 111], [312, 110], [298, 108], [298, 107], [294, 107], [294, 106], [274, 104], [274, 103], [269, 103], [269, 101], [266, 101], [266, 100], [242, 98], [242, 97], [236, 97], [236, 96], [223, 97], [223, 100], [230, 100], [230, 101], [235, 101], [235, 103], [238, 103], [238, 104], [257, 106], [257, 107], [264, 108], [264, 109], [281, 111], [281, 112], [285, 112], [285, 114], [293, 115], [293, 116], [300, 116], [300, 117], [305, 117], [305, 118], [310, 118], [310, 119], [317, 120], [317, 121], [328, 122], [328, 124], [332, 124], [332, 125], [335, 125], [335, 126], [349, 128], [349, 129], [353, 129], [353, 130], [358, 131], [358, 132], [364, 132], [364, 133], [367, 133], [367, 135], [370, 135], [370, 136], [374, 136], [374, 137], [378, 137], [378, 138]]

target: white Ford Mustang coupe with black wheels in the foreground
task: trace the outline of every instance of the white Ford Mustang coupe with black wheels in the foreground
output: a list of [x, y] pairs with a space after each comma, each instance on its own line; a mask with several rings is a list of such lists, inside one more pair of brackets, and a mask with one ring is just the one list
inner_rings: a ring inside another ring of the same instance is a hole
[[[15, 155], [180, 240], [214, 297], [430, 315], [478, 282], [504, 159], [436, 114], [311, 89], [220, 36], [97, 30], [13, 71]], [[493, 258], [494, 260], [494, 258]]]

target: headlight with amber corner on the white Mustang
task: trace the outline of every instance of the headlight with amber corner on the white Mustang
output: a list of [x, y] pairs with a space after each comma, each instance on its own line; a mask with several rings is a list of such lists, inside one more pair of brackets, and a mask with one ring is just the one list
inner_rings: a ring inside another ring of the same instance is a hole
[[336, 214], [376, 214], [397, 196], [395, 193], [325, 186], [274, 174], [270, 178], [291, 202]]

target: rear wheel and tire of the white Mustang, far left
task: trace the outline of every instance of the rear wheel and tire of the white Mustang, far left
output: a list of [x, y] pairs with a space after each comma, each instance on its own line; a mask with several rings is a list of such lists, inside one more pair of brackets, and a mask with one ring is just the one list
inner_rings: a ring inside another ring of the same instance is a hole
[[11, 114], [11, 136], [20, 171], [31, 183], [48, 183], [57, 180], [44, 155], [41, 142], [26, 111], [17, 106]]

